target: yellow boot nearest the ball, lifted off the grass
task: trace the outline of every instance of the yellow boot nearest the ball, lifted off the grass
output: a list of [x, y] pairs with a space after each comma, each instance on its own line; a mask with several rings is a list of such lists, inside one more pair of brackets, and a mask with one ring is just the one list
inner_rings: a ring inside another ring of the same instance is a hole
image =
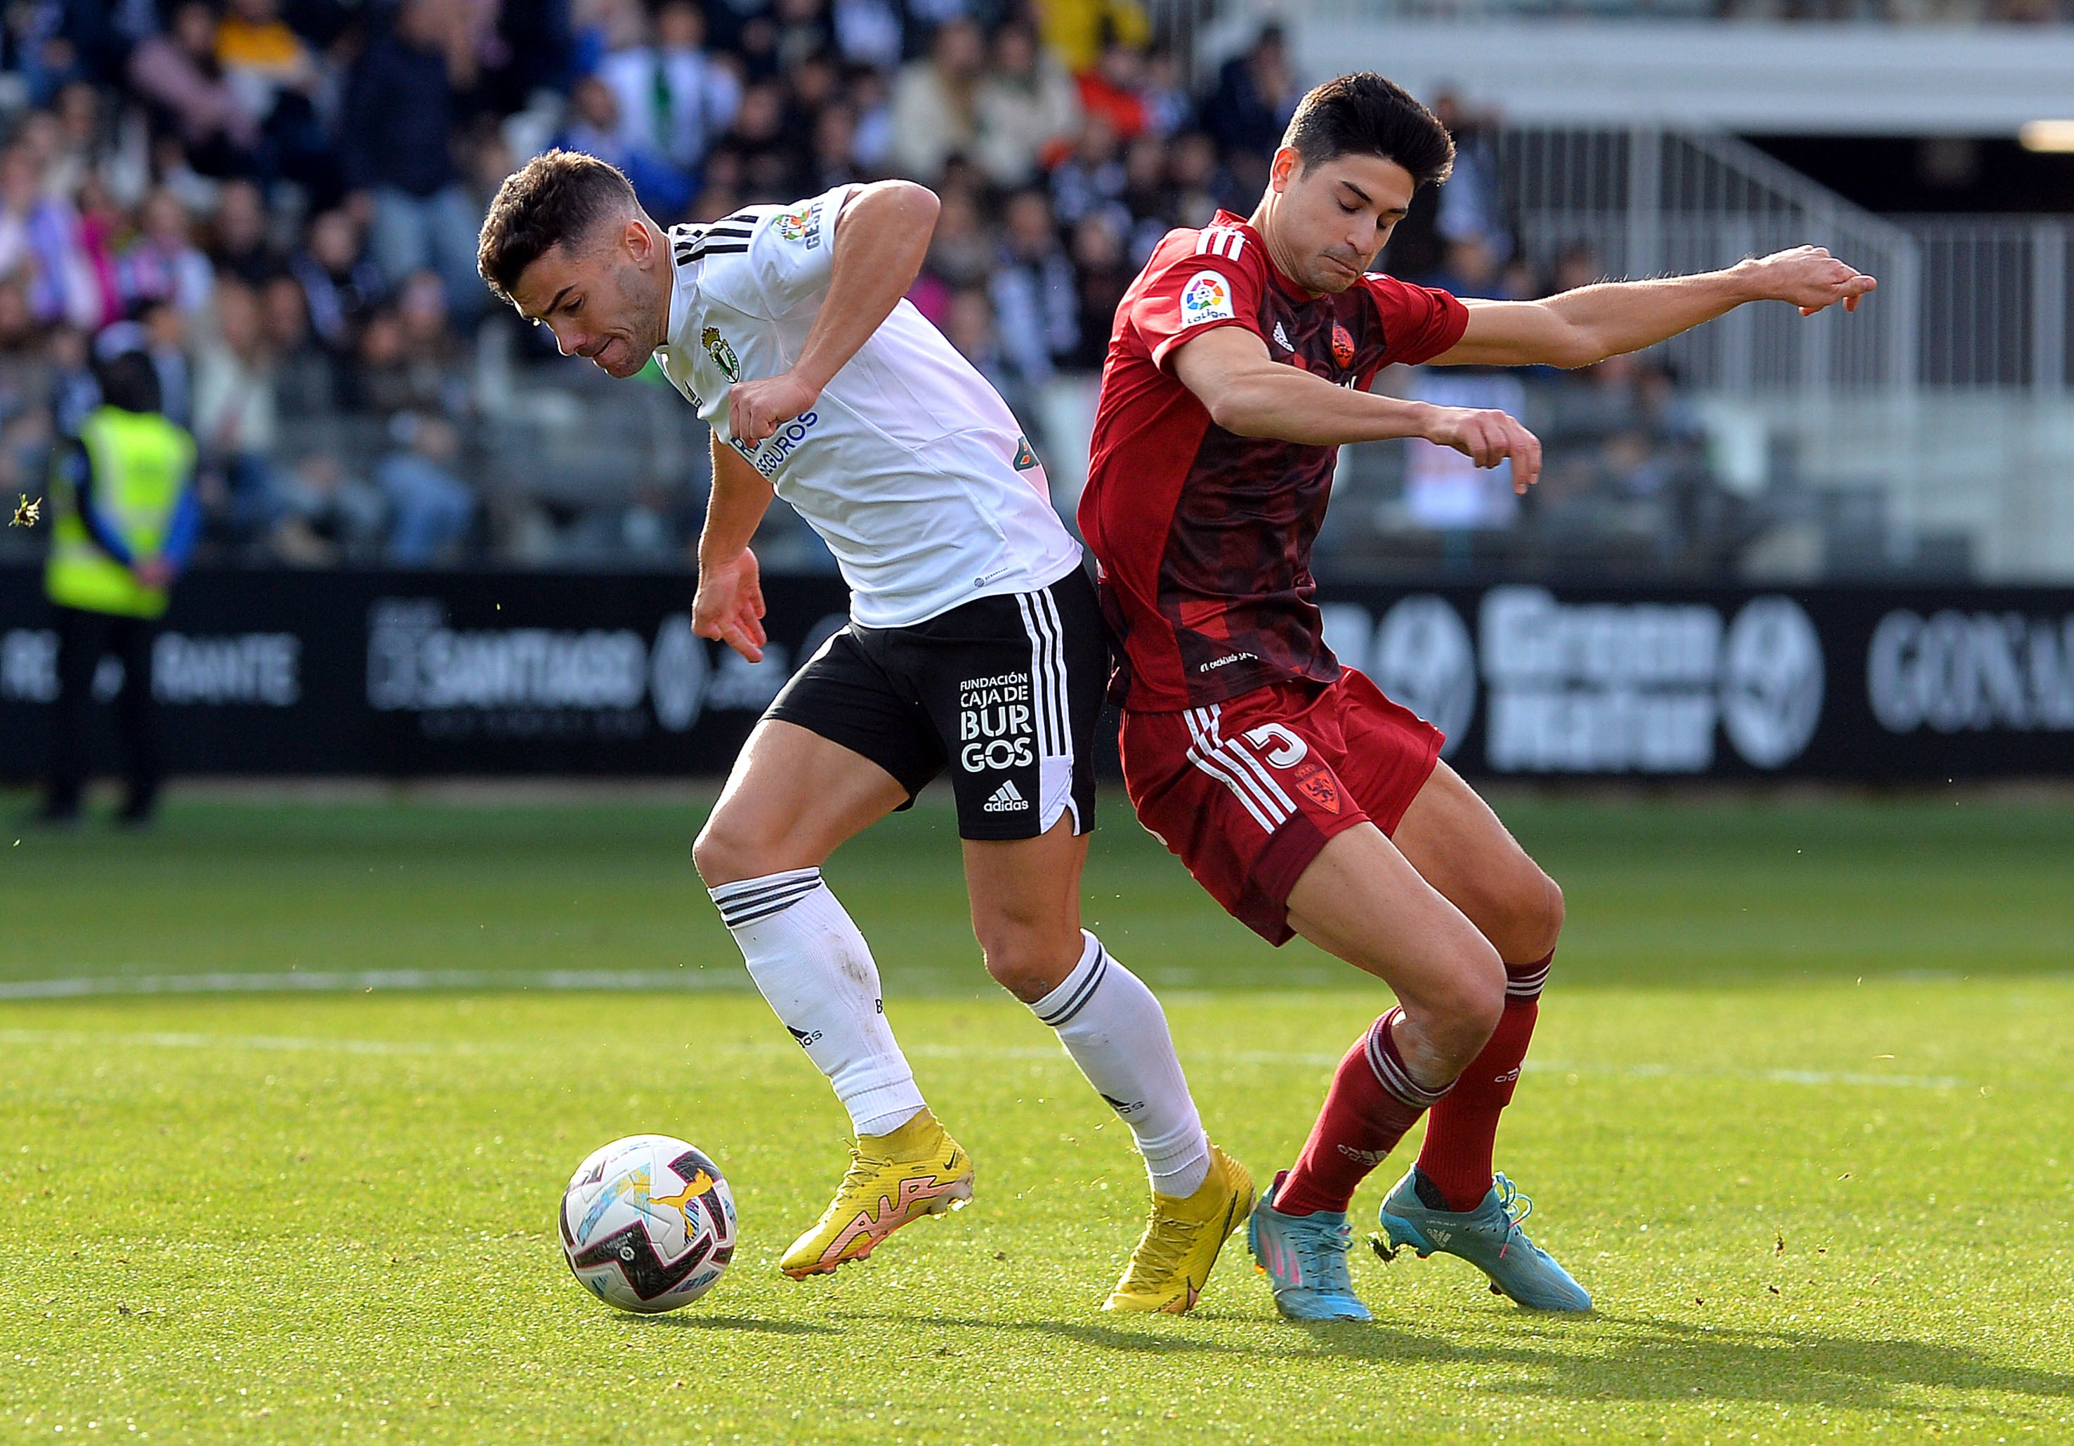
[[805, 1280], [863, 1259], [879, 1241], [923, 1216], [942, 1216], [973, 1199], [973, 1162], [935, 1116], [923, 1110], [892, 1135], [863, 1135], [850, 1168], [821, 1218], [778, 1261]]

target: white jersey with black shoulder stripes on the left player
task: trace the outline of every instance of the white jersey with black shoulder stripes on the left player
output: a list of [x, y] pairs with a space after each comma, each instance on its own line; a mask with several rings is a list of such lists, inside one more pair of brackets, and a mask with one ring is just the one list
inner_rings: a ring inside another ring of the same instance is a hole
[[1049, 587], [1081, 564], [1008, 405], [906, 301], [761, 446], [728, 432], [728, 386], [790, 367], [828, 297], [848, 187], [674, 226], [668, 342], [655, 351], [713, 434], [828, 541], [863, 627]]

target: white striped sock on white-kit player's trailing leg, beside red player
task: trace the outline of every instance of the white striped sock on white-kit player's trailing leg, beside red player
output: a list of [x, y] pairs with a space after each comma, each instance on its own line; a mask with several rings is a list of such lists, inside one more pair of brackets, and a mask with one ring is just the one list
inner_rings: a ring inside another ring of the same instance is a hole
[[1159, 1195], [1195, 1195], [1209, 1178], [1209, 1137], [1174, 1058], [1166, 1010], [1087, 929], [1066, 983], [1031, 1004], [1139, 1141]]

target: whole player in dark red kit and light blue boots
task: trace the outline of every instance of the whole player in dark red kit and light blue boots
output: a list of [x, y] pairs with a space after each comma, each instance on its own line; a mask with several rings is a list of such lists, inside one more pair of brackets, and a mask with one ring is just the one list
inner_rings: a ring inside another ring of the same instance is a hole
[[1112, 697], [1139, 819], [1269, 942], [1300, 934], [1398, 998], [1253, 1212], [1253, 1255], [1294, 1319], [1369, 1319], [1346, 1209], [1425, 1112], [1381, 1207], [1385, 1249], [1460, 1255], [1520, 1305], [1591, 1309], [1491, 1170], [1562, 890], [1439, 761], [1439, 730], [1334, 660], [1309, 566], [1340, 444], [1427, 438], [1510, 461], [1520, 492], [1541, 444], [1502, 411], [1369, 384], [1400, 361], [1580, 367], [1746, 301], [1813, 315], [1875, 284], [1813, 247], [1531, 303], [1371, 276], [1452, 160], [1446, 129], [1379, 75], [1305, 95], [1253, 216], [1170, 232], [1118, 307], [1081, 500], [1122, 645]]

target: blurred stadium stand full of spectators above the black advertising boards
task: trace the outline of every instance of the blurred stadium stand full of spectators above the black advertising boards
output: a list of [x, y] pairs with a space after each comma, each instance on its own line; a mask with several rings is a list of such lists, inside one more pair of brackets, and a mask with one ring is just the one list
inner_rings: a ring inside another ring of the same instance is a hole
[[[2051, 0], [1319, 15], [1935, 21], [2055, 44], [2064, 19]], [[0, 492], [37, 492], [91, 402], [93, 338], [120, 326], [203, 444], [212, 564], [686, 566], [703, 427], [660, 378], [620, 386], [556, 357], [473, 276], [496, 183], [570, 145], [620, 164], [666, 222], [854, 178], [933, 185], [942, 222], [913, 301], [1010, 398], [1070, 510], [1116, 299], [1170, 226], [1251, 210], [1313, 52], [1201, 0], [17, 6], [0, 54]], [[1392, 243], [1398, 274], [1533, 297], [1815, 239], [1883, 274], [1883, 309], [1850, 334], [1738, 322], [1574, 376], [1394, 378], [1520, 409], [1547, 479], [1520, 504], [1433, 448], [1350, 448], [1323, 566], [1717, 581], [1993, 577], [2074, 556], [2008, 508], [1927, 500], [1939, 477], [1923, 461], [1931, 436], [2020, 450], [2066, 423], [2064, 230], [1910, 230], [1726, 135], [1508, 127], [1435, 104], [1462, 160]], [[2008, 276], [1981, 282], [1974, 253]], [[2018, 301], [1997, 319], [1977, 295]], [[1960, 330], [1987, 340], [1958, 355]], [[1809, 396], [1829, 407], [1821, 425]], [[2014, 429], [2012, 396], [2037, 413]], [[1916, 419], [1906, 446], [1898, 405]], [[1937, 463], [1997, 465], [2024, 469]], [[0, 537], [0, 558], [35, 548]], [[782, 508], [763, 550], [778, 568], [832, 566]]]

